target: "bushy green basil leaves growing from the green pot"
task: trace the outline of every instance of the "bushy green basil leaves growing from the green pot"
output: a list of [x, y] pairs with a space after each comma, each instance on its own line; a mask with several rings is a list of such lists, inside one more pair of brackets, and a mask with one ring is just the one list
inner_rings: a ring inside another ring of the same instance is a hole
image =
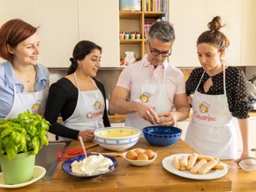
[[33, 151], [35, 155], [43, 144], [48, 144], [48, 130], [49, 122], [29, 110], [17, 118], [0, 118], [0, 154], [10, 159], [18, 152]]

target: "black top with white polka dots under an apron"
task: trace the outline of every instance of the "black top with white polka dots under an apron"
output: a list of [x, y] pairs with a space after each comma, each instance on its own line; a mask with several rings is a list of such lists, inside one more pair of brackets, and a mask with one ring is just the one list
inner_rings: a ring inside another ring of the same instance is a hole
[[[185, 83], [187, 95], [195, 92], [203, 72], [204, 70], [201, 67], [192, 70], [190, 77]], [[248, 118], [248, 112], [252, 109], [252, 107], [250, 101], [248, 100], [248, 87], [246, 85], [244, 71], [236, 67], [229, 66], [225, 70], [225, 76], [230, 112], [238, 119]], [[203, 84], [208, 78], [210, 77], [207, 73], [205, 73], [200, 82], [198, 92], [210, 95], [223, 94], [223, 72], [212, 77], [213, 85], [209, 88], [208, 92], [204, 92]]]

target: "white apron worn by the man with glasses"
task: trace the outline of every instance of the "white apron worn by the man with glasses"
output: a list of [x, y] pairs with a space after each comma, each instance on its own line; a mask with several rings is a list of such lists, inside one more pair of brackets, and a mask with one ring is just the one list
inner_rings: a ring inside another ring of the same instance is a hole
[[[141, 65], [142, 69], [143, 64]], [[161, 66], [162, 67], [162, 66]], [[158, 75], [157, 72], [160, 70], [156, 68], [154, 70], [154, 76]], [[139, 76], [139, 71], [135, 78]], [[134, 79], [135, 79], [134, 78]], [[147, 82], [133, 83], [134, 79], [132, 80], [132, 87], [131, 87], [131, 102], [140, 102], [144, 103], [149, 107], [152, 107], [156, 114], [167, 113], [172, 108], [173, 104], [168, 100], [166, 90], [165, 90], [165, 69], [163, 72], [163, 83], [160, 84], [158, 79], [158, 84], [150, 85]], [[150, 122], [142, 119], [138, 113], [126, 114], [125, 126], [133, 127], [142, 130], [147, 126], [151, 126]], [[141, 137], [143, 134], [140, 135]]]

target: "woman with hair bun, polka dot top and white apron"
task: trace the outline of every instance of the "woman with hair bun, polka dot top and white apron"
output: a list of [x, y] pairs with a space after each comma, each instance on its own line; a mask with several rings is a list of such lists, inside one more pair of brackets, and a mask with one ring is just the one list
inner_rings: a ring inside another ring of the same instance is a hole
[[197, 41], [202, 67], [192, 70], [186, 81], [193, 117], [185, 142], [203, 155], [237, 159], [237, 136], [232, 124], [234, 116], [238, 119], [243, 141], [240, 158], [244, 158], [249, 156], [247, 118], [251, 109], [245, 74], [222, 62], [230, 41], [219, 31], [221, 18], [213, 18], [208, 27], [209, 30], [201, 33]]

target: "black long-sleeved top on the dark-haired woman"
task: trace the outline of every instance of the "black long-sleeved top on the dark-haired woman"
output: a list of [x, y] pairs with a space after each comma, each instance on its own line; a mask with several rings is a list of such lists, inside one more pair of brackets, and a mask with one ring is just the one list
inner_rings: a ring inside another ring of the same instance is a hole
[[[105, 89], [102, 83], [94, 79], [97, 87], [101, 90], [104, 99], [106, 99]], [[67, 78], [61, 78], [49, 88], [49, 96], [46, 103], [44, 118], [50, 122], [49, 132], [60, 137], [78, 139], [79, 130], [70, 129], [56, 122], [61, 114], [63, 121], [68, 119], [77, 106], [79, 90]], [[106, 100], [104, 100], [106, 102]], [[105, 103], [106, 106], [106, 103]], [[103, 114], [103, 123], [109, 127], [109, 118], [105, 107]]]

